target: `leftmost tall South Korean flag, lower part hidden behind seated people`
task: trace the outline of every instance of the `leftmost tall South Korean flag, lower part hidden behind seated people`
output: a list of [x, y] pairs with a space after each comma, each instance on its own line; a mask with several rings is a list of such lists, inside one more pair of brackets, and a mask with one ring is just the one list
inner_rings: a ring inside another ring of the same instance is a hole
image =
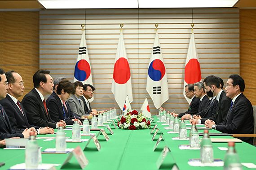
[[[82, 30], [82, 38], [79, 46], [78, 56], [75, 64], [74, 82], [81, 81], [83, 84], [93, 85], [91, 64], [85, 40], [85, 30]], [[92, 102], [93, 98], [89, 99]]]

